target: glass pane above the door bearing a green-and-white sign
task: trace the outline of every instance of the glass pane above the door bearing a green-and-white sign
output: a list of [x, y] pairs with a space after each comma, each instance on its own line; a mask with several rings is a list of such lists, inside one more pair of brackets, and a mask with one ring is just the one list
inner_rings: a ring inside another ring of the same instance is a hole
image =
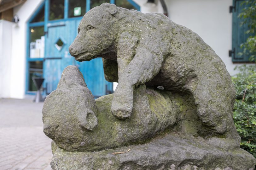
[[[85, 14], [85, 0], [70, 0], [68, 2], [68, 17], [79, 17]], [[80, 8], [79, 8], [80, 7]]]

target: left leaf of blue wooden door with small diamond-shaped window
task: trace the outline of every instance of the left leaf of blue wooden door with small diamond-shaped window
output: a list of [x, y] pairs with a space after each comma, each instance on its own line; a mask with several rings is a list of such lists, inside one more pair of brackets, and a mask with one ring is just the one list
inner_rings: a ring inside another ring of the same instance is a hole
[[73, 65], [74, 59], [69, 55], [68, 47], [75, 36], [74, 23], [75, 21], [65, 21], [47, 24], [44, 58], [44, 78], [47, 93], [57, 88], [63, 69], [68, 65]]

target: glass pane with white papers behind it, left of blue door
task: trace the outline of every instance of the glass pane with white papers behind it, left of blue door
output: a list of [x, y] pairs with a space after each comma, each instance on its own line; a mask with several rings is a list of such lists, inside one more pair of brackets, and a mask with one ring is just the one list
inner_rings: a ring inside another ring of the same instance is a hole
[[30, 27], [30, 58], [44, 57], [44, 26]]

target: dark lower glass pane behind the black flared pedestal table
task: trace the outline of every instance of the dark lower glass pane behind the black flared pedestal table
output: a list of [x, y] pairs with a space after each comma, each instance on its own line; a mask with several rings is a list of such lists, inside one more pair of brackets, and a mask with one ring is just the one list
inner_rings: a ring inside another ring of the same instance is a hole
[[37, 88], [32, 80], [32, 77], [43, 77], [43, 61], [29, 62], [29, 77], [28, 77], [28, 90], [37, 91]]

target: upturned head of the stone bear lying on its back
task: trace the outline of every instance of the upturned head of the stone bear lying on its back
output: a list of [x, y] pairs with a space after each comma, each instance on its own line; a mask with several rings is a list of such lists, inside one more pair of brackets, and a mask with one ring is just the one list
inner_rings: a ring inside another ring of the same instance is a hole
[[[50, 101], [50, 102], [49, 102]], [[92, 93], [77, 66], [67, 66], [55, 91], [47, 96], [42, 110], [44, 133], [49, 138], [72, 141], [76, 134], [63, 131], [69, 129], [92, 131], [97, 126], [97, 108]], [[72, 120], [72, 121], [68, 121]]]

